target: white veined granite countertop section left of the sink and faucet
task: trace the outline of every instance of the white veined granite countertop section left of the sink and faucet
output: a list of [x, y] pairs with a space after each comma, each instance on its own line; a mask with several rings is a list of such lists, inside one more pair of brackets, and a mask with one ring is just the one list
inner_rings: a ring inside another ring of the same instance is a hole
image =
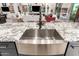
[[[32, 24], [32, 25], [31, 25]], [[0, 24], [0, 41], [19, 40], [26, 29], [38, 28], [36, 23], [5, 23]]]

